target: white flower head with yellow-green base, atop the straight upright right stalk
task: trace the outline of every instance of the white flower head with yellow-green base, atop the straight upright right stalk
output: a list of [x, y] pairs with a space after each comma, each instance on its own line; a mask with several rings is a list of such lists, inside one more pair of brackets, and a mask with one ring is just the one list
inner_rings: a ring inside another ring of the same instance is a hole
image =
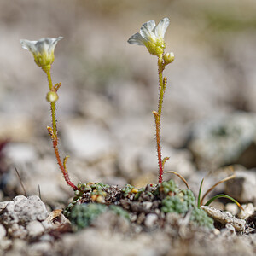
[[157, 26], [155, 26], [154, 20], [150, 20], [143, 24], [139, 33], [129, 38], [128, 43], [145, 45], [150, 54], [161, 55], [166, 48], [164, 36], [169, 24], [170, 20], [168, 18], [160, 20]]

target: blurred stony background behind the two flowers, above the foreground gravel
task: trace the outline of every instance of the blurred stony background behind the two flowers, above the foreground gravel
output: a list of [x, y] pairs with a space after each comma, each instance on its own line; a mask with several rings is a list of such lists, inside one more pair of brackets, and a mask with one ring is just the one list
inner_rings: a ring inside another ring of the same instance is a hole
[[[47, 79], [20, 38], [64, 37], [55, 48], [52, 78], [62, 83], [60, 151], [71, 156], [73, 183], [157, 182], [156, 58], [127, 39], [144, 22], [164, 17], [171, 20], [166, 51], [176, 56], [165, 71], [166, 171], [182, 174], [196, 192], [202, 177], [207, 186], [233, 168], [240, 176], [229, 195], [256, 201], [255, 13], [253, 0], [1, 1], [0, 201], [25, 194], [20, 179], [26, 195], [40, 194], [52, 207], [73, 195], [46, 130]], [[247, 193], [237, 195], [243, 186]]]

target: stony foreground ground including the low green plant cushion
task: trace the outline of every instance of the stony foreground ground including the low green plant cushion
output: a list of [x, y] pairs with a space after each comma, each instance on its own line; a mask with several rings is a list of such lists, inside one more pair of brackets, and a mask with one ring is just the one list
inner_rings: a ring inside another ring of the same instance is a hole
[[188, 191], [177, 190], [172, 180], [143, 190], [87, 183], [64, 212], [48, 212], [36, 195], [19, 195], [0, 203], [0, 247], [3, 255], [255, 254], [253, 204], [235, 218], [193, 208]]

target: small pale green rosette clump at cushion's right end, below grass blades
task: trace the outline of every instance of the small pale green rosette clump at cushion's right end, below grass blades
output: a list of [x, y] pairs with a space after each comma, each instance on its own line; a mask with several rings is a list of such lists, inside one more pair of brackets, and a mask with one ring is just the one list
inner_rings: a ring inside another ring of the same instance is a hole
[[208, 217], [207, 212], [205, 212], [201, 207], [195, 207], [195, 209], [191, 212], [190, 221], [208, 229], [214, 228], [213, 219]]

